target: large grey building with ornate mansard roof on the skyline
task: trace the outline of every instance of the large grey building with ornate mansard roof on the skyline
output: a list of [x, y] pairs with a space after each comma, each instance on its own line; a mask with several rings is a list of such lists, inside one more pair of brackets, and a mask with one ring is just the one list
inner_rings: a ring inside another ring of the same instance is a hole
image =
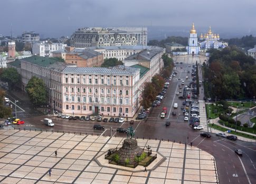
[[70, 42], [71, 46], [77, 48], [147, 45], [147, 28], [79, 28], [71, 35]]

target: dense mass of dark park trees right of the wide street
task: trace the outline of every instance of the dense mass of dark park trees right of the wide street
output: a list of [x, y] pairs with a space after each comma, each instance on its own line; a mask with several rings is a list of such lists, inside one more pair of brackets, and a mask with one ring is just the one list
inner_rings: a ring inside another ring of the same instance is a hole
[[206, 97], [248, 99], [256, 94], [255, 60], [235, 46], [210, 50], [209, 64], [203, 64]]

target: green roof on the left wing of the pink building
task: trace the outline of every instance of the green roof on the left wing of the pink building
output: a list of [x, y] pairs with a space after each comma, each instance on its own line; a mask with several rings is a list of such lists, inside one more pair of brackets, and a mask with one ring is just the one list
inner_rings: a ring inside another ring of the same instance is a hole
[[33, 63], [33, 64], [37, 64], [40, 66], [50, 66], [51, 64], [55, 64], [58, 62], [64, 63], [64, 60], [59, 57], [31, 56], [31, 57], [23, 58], [22, 60]]

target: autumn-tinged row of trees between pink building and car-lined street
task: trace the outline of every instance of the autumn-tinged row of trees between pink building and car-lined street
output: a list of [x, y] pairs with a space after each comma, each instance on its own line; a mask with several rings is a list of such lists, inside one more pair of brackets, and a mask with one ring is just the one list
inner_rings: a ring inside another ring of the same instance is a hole
[[168, 57], [167, 54], [163, 54], [162, 59], [164, 62], [162, 74], [153, 76], [151, 82], [146, 83], [144, 86], [140, 105], [146, 109], [151, 106], [153, 101], [156, 99], [157, 94], [162, 91], [165, 85], [165, 78], [169, 77], [173, 70], [173, 59]]

